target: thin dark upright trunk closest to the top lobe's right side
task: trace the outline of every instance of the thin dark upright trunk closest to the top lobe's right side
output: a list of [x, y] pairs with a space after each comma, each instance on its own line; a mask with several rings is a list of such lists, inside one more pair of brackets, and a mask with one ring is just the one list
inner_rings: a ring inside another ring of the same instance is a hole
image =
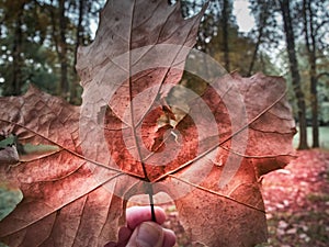
[[229, 72], [229, 47], [228, 47], [228, 21], [229, 21], [229, 2], [223, 0], [222, 9], [222, 29], [223, 29], [223, 53], [225, 69]]

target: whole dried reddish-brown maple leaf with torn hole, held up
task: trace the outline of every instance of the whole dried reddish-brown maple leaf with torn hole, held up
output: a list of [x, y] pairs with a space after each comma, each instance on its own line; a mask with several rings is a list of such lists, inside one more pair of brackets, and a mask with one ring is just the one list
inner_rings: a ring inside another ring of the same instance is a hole
[[0, 130], [52, 151], [1, 166], [23, 201], [0, 222], [10, 246], [103, 246], [126, 202], [174, 201], [192, 239], [253, 246], [266, 225], [258, 179], [292, 154], [294, 121], [281, 78], [179, 86], [202, 12], [183, 20], [167, 1], [109, 1], [95, 41], [79, 50], [80, 108], [30, 88], [0, 99]]

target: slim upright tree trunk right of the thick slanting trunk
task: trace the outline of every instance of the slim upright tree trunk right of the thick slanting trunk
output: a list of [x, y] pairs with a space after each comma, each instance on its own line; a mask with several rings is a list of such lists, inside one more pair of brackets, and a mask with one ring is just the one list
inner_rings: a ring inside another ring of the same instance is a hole
[[[310, 100], [311, 100], [311, 126], [313, 147], [319, 147], [318, 124], [318, 93], [317, 93], [317, 64], [316, 64], [316, 38], [313, 23], [313, 10], [309, 0], [303, 0], [304, 34], [307, 48], [309, 76], [310, 76]], [[309, 40], [310, 38], [310, 40]]]

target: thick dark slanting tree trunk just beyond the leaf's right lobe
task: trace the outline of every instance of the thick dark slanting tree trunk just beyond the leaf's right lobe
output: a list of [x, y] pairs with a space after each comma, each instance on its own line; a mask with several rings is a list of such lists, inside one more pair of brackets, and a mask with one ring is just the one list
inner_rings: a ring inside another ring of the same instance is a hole
[[286, 47], [290, 59], [290, 69], [293, 79], [293, 87], [295, 91], [295, 96], [297, 99], [298, 105], [298, 123], [299, 123], [299, 146], [298, 149], [307, 149], [307, 132], [306, 132], [306, 108], [305, 108], [305, 100], [304, 93], [300, 87], [300, 76], [298, 71], [298, 64], [296, 58], [295, 52], [295, 37], [294, 37], [294, 30], [291, 19], [291, 10], [290, 10], [290, 0], [281, 0], [281, 12], [284, 22], [284, 32], [285, 32], [285, 40], [286, 40]]

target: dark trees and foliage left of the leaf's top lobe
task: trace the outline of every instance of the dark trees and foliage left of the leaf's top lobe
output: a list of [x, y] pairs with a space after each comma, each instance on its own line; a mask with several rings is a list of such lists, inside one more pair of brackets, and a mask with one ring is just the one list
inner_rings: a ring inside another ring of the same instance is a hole
[[[103, 4], [101, 0], [67, 0], [64, 13], [67, 29], [61, 33], [58, 1], [1, 1], [0, 94], [21, 94], [29, 83], [34, 83], [61, 96], [59, 83], [66, 76], [68, 87], [76, 92], [73, 97], [79, 98], [81, 90], [75, 69], [77, 46], [90, 43], [90, 20], [98, 18], [100, 2]], [[60, 57], [61, 35], [68, 50], [64, 58]], [[67, 61], [66, 75], [60, 70], [63, 59]], [[65, 97], [70, 99], [68, 92]]]

